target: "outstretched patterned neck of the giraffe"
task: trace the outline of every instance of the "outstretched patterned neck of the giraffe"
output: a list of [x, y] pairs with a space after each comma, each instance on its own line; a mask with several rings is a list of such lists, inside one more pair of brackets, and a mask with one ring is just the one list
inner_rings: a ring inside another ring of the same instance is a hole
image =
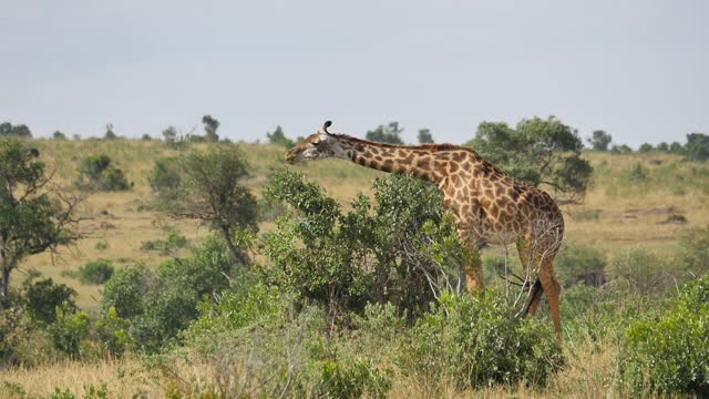
[[345, 135], [338, 139], [345, 150], [338, 157], [387, 173], [411, 173], [434, 184], [444, 177], [442, 162], [427, 146], [389, 145]]

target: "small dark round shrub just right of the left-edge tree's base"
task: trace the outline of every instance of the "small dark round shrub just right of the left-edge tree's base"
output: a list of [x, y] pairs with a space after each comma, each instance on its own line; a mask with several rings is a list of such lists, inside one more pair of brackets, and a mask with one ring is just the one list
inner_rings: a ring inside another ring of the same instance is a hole
[[24, 293], [24, 305], [34, 320], [52, 324], [56, 320], [56, 307], [75, 309], [73, 297], [76, 291], [64, 285], [54, 284], [51, 278], [30, 284]]

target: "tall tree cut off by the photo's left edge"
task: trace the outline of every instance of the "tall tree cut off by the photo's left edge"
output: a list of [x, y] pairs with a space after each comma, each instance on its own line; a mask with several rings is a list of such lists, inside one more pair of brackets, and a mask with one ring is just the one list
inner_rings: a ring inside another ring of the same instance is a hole
[[81, 237], [76, 207], [83, 197], [53, 186], [38, 156], [16, 140], [0, 140], [0, 306], [7, 306], [10, 274], [22, 260]]

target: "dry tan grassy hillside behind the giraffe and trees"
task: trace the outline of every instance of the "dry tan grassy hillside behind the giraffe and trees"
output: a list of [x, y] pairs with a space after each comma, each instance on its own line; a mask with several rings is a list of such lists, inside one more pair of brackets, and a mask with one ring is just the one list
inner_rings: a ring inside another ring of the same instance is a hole
[[[109, 155], [133, 184], [127, 192], [96, 193], [89, 198], [83, 209], [89, 221], [83, 227], [90, 232], [90, 237], [64, 250], [59, 258], [38, 255], [22, 265], [74, 287], [79, 291], [80, 307], [95, 309], [100, 287], [80, 285], [75, 279], [62, 276], [62, 272], [96, 258], [112, 260], [117, 266], [156, 265], [165, 255], [141, 250], [141, 244], [164, 238], [163, 226], [173, 226], [189, 239], [208, 234], [197, 223], [177, 223], [150, 211], [147, 176], [154, 162], [162, 156], [177, 155], [178, 150], [160, 141], [136, 140], [34, 140], [31, 144], [40, 150], [42, 161], [55, 170], [56, 180], [62, 184], [70, 185], [75, 180], [80, 160], [93, 154]], [[251, 177], [247, 185], [257, 196], [268, 175], [284, 167], [302, 172], [345, 205], [360, 192], [370, 194], [374, 178], [383, 175], [341, 160], [288, 166], [282, 162], [285, 149], [280, 146], [234, 145], [240, 147], [248, 161]], [[682, 232], [709, 224], [709, 204], [702, 200], [709, 194], [709, 165], [657, 153], [586, 152], [584, 156], [594, 166], [594, 182], [582, 204], [563, 207], [567, 242], [598, 246], [610, 256], [618, 248], [635, 246], [664, 254], [676, 248]], [[672, 216], [684, 216], [688, 223], [671, 222]], [[261, 231], [270, 227], [269, 224], [261, 225]], [[16, 282], [19, 277], [19, 274], [14, 276]]]

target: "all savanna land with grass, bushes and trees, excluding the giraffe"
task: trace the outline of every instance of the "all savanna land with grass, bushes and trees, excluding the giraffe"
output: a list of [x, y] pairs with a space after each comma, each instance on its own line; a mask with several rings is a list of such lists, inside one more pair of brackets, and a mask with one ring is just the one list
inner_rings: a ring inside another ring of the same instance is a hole
[[435, 187], [286, 167], [282, 127], [232, 144], [202, 121], [164, 141], [0, 125], [0, 397], [709, 395], [706, 135], [583, 149], [555, 117], [470, 134], [563, 203], [559, 346], [544, 306], [516, 317], [514, 248], [482, 248], [487, 289], [464, 293]]

